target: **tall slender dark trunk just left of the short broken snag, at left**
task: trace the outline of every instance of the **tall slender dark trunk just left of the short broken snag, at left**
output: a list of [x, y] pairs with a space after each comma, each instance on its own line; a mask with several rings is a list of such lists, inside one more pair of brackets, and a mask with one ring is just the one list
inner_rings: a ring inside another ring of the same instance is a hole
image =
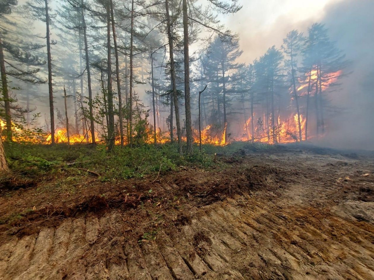
[[49, 14], [48, 0], [45, 0], [46, 29], [47, 29], [47, 64], [48, 64], [48, 92], [49, 92], [49, 112], [50, 112], [50, 136], [51, 145], [55, 144], [55, 111], [53, 109], [53, 88], [52, 88], [52, 56], [50, 53], [50, 34], [49, 34]]

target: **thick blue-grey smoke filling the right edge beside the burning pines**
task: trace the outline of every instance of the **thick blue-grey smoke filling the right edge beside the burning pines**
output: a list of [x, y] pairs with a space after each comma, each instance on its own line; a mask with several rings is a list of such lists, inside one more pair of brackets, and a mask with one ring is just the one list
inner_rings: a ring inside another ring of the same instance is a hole
[[340, 110], [321, 144], [374, 150], [374, 1], [346, 0], [326, 7], [322, 22], [332, 40], [352, 61], [337, 91], [330, 93]]

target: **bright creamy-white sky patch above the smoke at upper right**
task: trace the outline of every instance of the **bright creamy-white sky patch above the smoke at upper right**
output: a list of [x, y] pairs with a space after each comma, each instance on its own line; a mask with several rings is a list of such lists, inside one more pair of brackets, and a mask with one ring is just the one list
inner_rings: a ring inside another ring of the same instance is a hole
[[319, 21], [326, 6], [341, 0], [240, 0], [243, 8], [225, 16], [228, 28], [240, 34], [242, 62], [251, 62], [272, 45], [279, 47], [287, 32]]

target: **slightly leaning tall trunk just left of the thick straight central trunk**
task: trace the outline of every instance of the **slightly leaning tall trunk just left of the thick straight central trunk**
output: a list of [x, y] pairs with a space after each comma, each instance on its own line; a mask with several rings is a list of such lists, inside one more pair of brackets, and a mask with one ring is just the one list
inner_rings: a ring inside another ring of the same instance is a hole
[[177, 84], [175, 83], [175, 68], [174, 68], [174, 47], [173, 40], [171, 37], [171, 24], [170, 24], [170, 15], [169, 15], [169, 1], [165, 0], [166, 8], [166, 24], [168, 28], [168, 40], [169, 40], [169, 54], [170, 54], [170, 70], [171, 70], [171, 81], [173, 85], [173, 99], [174, 99], [174, 108], [175, 108], [175, 121], [177, 122], [177, 136], [178, 136], [178, 152], [179, 155], [182, 155], [182, 130], [179, 120], [179, 105], [178, 105], [178, 96], [177, 96]]

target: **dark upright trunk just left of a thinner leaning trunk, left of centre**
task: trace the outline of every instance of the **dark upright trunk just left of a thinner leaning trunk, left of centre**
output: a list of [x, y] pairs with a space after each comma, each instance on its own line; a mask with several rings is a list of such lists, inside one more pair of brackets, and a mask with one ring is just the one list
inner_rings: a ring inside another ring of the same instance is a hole
[[110, 44], [110, 1], [107, 0], [107, 50], [108, 50], [108, 150], [113, 150], [114, 147], [114, 111], [113, 111], [113, 89], [112, 89], [112, 59], [111, 59], [111, 44]]

